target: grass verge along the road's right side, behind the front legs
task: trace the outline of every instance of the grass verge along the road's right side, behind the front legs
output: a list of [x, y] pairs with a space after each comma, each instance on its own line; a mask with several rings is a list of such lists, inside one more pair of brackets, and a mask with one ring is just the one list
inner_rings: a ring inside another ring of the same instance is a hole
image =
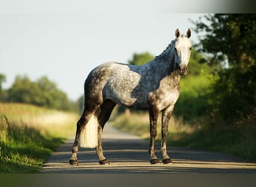
[[[256, 162], [255, 120], [244, 121], [237, 126], [216, 125], [210, 120], [185, 123], [183, 118], [172, 117], [168, 129], [168, 145], [212, 150], [228, 153]], [[148, 114], [121, 114], [112, 119], [113, 126], [131, 132], [141, 138], [149, 139]], [[161, 141], [160, 120], [157, 126], [156, 141]]]

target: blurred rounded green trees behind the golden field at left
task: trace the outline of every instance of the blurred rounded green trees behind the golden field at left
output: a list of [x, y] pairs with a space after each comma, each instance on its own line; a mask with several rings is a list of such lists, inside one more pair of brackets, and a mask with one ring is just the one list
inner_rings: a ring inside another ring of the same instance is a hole
[[0, 98], [3, 102], [28, 103], [64, 111], [73, 110], [75, 107], [67, 94], [46, 76], [36, 82], [31, 82], [27, 76], [16, 76], [11, 88], [5, 92], [4, 98]]

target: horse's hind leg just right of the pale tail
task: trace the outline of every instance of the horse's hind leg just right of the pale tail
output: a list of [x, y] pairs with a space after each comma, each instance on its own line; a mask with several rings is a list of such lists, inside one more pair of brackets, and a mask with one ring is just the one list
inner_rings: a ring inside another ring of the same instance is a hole
[[106, 100], [105, 102], [103, 102], [102, 105], [100, 105], [101, 111], [98, 117], [100, 126], [98, 126], [98, 144], [96, 147], [96, 153], [97, 153], [97, 156], [99, 156], [100, 165], [109, 165], [109, 161], [103, 155], [101, 135], [106, 122], [109, 120], [109, 117], [112, 113], [113, 108], [115, 108], [115, 105], [116, 103], [112, 102], [111, 100]]

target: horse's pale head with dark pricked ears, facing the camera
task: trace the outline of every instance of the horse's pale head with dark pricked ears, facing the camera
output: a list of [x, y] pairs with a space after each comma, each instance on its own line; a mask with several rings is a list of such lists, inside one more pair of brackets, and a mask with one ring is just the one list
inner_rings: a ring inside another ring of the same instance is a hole
[[180, 35], [179, 29], [176, 29], [175, 36], [175, 61], [179, 64], [180, 75], [185, 75], [188, 70], [187, 66], [189, 64], [189, 58], [192, 50], [192, 45], [189, 40], [191, 31], [188, 29], [188, 31], [186, 31], [186, 35]]

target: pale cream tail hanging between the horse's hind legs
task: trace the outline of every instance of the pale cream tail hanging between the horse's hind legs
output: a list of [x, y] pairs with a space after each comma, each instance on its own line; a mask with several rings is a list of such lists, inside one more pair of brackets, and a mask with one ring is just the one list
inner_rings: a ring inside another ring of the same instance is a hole
[[91, 118], [88, 120], [88, 123], [85, 125], [85, 128], [82, 129], [80, 134], [80, 147], [85, 148], [94, 148], [98, 145], [98, 126], [100, 126], [98, 120], [99, 110], [97, 110]]

